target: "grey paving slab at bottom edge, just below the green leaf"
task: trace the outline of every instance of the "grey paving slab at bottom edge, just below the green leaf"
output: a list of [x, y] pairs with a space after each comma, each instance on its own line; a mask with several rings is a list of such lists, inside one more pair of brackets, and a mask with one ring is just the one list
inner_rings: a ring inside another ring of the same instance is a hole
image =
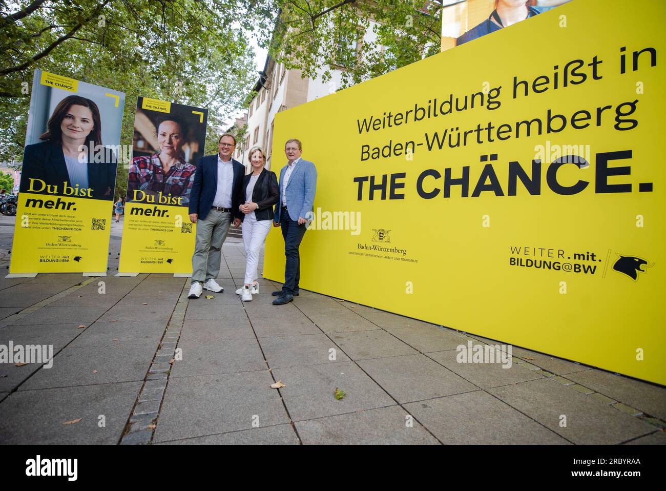
[[424, 445], [439, 444], [418, 422], [407, 426], [400, 406], [296, 422], [304, 444]]

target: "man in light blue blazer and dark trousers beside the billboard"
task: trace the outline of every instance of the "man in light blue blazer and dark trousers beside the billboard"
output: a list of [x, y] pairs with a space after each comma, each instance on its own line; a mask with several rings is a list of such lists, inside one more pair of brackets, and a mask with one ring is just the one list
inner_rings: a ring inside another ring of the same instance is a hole
[[298, 246], [305, 235], [306, 216], [312, 213], [317, 187], [317, 169], [312, 162], [300, 158], [302, 152], [299, 140], [291, 139], [284, 145], [288, 164], [280, 171], [280, 197], [275, 205], [273, 225], [282, 228], [286, 264], [282, 290], [273, 292], [278, 297], [273, 300], [274, 305], [286, 304], [298, 296]]

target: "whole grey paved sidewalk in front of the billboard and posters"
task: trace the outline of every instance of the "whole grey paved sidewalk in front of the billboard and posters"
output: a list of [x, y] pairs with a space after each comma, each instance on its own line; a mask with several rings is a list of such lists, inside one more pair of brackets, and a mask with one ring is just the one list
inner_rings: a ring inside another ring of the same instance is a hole
[[459, 344], [494, 343], [304, 290], [273, 306], [268, 280], [243, 303], [237, 239], [224, 293], [188, 300], [187, 278], [115, 278], [114, 230], [105, 278], [0, 279], [0, 344], [55, 354], [0, 364], [1, 443], [666, 442], [663, 387], [517, 347], [508, 369], [459, 364]]

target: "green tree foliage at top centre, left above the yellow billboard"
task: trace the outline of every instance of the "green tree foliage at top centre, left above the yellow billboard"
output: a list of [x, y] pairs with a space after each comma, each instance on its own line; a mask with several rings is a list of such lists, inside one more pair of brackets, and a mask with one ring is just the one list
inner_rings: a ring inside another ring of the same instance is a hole
[[[278, 0], [270, 53], [304, 77], [342, 70], [342, 89], [440, 52], [442, 3], [432, 0]], [[364, 33], [376, 34], [362, 41]]]

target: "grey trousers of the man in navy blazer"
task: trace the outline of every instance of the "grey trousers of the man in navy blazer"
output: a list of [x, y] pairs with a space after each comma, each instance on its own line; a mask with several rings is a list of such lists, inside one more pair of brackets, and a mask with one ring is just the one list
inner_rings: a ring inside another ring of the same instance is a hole
[[231, 225], [231, 213], [210, 210], [196, 221], [196, 241], [192, 256], [192, 283], [217, 278], [220, 274], [222, 244]]

